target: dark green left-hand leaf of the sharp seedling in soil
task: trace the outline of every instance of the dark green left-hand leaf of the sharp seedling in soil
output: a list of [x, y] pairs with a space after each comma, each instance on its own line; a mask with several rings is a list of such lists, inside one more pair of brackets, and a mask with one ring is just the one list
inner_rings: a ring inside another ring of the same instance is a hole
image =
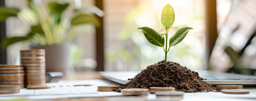
[[143, 34], [145, 35], [146, 39], [149, 41], [149, 43], [152, 43], [153, 45], [163, 47], [164, 46], [164, 38], [161, 37], [161, 35], [156, 32], [154, 29], [149, 27], [140, 27], [140, 29]]

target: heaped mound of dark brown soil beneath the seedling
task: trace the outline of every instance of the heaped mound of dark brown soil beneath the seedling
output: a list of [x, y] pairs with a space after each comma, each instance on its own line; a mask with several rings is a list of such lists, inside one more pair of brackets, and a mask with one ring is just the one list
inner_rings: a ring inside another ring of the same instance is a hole
[[175, 87], [185, 92], [217, 92], [213, 85], [203, 81], [197, 72], [176, 62], [160, 61], [142, 70], [130, 82], [119, 88]]

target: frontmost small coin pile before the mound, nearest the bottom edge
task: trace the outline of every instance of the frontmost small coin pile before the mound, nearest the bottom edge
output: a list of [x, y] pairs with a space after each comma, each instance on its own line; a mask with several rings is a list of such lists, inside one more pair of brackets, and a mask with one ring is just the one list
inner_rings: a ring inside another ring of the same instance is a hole
[[168, 97], [180, 97], [180, 99], [183, 99], [183, 94], [185, 92], [183, 91], [160, 91], [160, 92], [155, 92], [155, 95], [158, 96], [168, 96]]

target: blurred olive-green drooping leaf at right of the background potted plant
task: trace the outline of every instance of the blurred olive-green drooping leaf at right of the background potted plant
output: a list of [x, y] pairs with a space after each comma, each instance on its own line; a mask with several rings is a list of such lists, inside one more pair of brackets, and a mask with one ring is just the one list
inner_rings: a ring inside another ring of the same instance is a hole
[[96, 27], [100, 25], [98, 19], [95, 16], [89, 15], [89, 14], [81, 14], [78, 16], [75, 16], [71, 20], [71, 25], [78, 25], [78, 24], [94, 24]]

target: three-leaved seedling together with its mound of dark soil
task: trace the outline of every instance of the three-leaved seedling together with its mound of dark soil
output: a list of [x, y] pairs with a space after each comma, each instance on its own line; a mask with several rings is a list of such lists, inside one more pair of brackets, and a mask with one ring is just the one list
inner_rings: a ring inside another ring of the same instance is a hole
[[[175, 14], [171, 5], [166, 5], [161, 14], [161, 22], [165, 28], [164, 33], [159, 33], [149, 27], [140, 27], [140, 29], [149, 43], [163, 48], [165, 60], [157, 64], [147, 66], [139, 74], [125, 84], [122, 88], [150, 88], [150, 87], [175, 87], [178, 91], [185, 92], [209, 92], [217, 91], [213, 85], [203, 81], [197, 72], [191, 71], [176, 62], [167, 61], [169, 49], [180, 43], [191, 27], [182, 27], [172, 35], [168, 44], [168, 32], [174, 23]], [[165, 37], [165, 38], [164, 38]], [[120, 91], [118, 89], [117, 91]]]

